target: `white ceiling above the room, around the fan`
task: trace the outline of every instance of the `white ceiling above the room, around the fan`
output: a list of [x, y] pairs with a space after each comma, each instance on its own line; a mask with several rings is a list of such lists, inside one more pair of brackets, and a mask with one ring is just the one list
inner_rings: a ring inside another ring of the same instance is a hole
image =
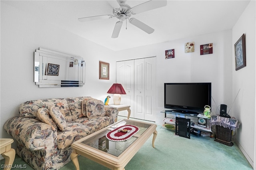
[[[131, 7], [148, 0], [127, 0]], [[1, 1], [3, 2], [3, 1]], [[59, 28], [72, 32], [114, 51], [168, 42], [190, 36], [232, 29], [249, 1], [168, 0], [167, 6], [132, 15], [155, 29], [152, 34], [129, 22], [122, 25], [118, 38], [111, 38], [117, 18], [79, 22], [78, 18], [112, 14], [106, 0], [4, 1]]]

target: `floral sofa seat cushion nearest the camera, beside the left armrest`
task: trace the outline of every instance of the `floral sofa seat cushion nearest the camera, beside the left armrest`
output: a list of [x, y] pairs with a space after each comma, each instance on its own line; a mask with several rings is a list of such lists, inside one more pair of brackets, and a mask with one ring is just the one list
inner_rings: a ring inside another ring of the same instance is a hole
[[57, 131], [57, 147], [58, 149], [70, 146], [76, 140], [92, 133], [92, 128], [76, 122], [67, 122], [65, 131]]

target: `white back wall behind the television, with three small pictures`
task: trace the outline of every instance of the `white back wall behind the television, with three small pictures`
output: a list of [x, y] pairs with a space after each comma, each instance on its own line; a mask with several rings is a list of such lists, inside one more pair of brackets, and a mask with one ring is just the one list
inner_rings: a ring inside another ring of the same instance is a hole
[[[164, 119], [164, 83], [211, 82], [212, 112], [216, 106], [232, 104], [232, 34], [231, 30], [146, 45], [116, 52], [118, 60], [156, 56], [156, 122]], [[185, 53], [184, 45], [195, 42], [195, 52]], [[200, 45], [213, 43], [213, 53], [200, 55]], [[165, 59], [165, 50], [174, 49], [175, 58]]]

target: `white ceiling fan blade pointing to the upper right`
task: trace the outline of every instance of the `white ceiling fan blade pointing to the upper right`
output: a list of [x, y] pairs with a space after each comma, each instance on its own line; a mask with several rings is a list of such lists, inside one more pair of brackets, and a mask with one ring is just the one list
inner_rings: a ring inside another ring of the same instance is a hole
[[132, 14], [153, 10], [167, 5], [167, 0], [150, 0], [132, 7]]

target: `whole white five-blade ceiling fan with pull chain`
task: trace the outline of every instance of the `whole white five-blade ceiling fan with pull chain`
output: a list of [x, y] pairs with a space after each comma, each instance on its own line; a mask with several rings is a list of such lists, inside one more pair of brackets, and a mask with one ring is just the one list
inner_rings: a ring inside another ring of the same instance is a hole
[[136, 18], [130, 18], [130, 17], [134, 14], [138, 14], [148, 10], [153, 10], [153, 9], [160, 8], [167, 5], [167, 0], [150, 0], [134, 7], [130, 7], [125, 2], [126, 0], [108, 0], [108, 3], [113, 7], [113, 14], [89, 16], [84, 18], [78, 18], [78, 20], [80, 22], [88, 22], [92, 20], [100, 20], [105, 18], [118, 18], [119, 21], [116, 22], [111, 38], [118, 37], [122, 24], [125, 20], [126, 21], [129, 20], [129, 22], [132, 25], [140, 28], [141, 30], [143, 30], [148, 34], [151, 34], [154, 32], [153, 28], [137, 20]]

